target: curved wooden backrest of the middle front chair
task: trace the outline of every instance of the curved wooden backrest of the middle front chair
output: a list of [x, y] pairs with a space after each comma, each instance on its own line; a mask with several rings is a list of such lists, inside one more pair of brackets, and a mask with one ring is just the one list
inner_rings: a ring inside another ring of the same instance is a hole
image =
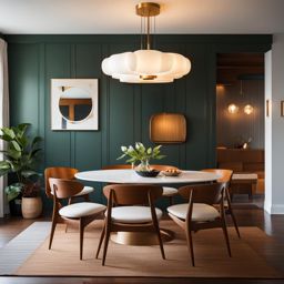
[[149, 194], [154, 202], [163, 194], [162, 186], [146, 184], [111, 184], [103, 187], [103, 194], [109, 200], [113, 191], [114, 203], [118, 205], [149, 204]]

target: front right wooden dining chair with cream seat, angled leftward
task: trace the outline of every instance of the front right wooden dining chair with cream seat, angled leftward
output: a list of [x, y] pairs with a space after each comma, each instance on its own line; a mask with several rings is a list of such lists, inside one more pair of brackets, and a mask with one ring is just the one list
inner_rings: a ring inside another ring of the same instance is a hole
[[[172, 205], [168, 207], [168, 212], [170, 217], [185, 231], [192, 266], [195, 266], [192, 232], [200, 230], [222, 227], [227, 253], [231, 256], [224, 210], [224, 185], [222, 183], [186, 185], [180, 187], [179, 193], [189, 203]], [[220, 203], [220, 212], [213, 206], [216, 203]]]

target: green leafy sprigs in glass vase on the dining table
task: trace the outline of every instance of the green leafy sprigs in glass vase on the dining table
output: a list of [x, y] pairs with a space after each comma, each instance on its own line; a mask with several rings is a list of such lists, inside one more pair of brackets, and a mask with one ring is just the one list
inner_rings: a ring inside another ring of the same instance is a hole
[[139, 163], [135, 166], [138, 172], [151, 172], [153, 170], [150, 168], [150, 161], [165, 158], [165, 155], [161, 154], [161, 146], [145, 148], [141, 142], [136, 142], [134, 148], [132, 145], [129, 148], [121, 146], [123, 154], [118, 160], [128, 158], [126, 163], [131, 163], [132, 166]]

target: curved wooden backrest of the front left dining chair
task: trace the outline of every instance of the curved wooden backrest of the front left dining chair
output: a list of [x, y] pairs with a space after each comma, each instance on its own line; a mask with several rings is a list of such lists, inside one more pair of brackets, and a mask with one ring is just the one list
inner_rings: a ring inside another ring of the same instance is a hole
[[55, 199], [69, 199], [81, 192], [84, 185], [78, 181], [65, 179], [49, 179], [50, 189], [53, 191]]

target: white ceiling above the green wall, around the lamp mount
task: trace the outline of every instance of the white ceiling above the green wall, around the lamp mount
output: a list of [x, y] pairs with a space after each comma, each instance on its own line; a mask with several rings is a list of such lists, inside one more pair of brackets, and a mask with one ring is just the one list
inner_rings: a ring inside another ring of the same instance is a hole
[[[152, 0], [153, 1], [153, 0]], [[2, 33], [140, 33], [136, 0], [0, 0]], [[158, 0], [158, 33], [284, 32], [284, 0]]]

